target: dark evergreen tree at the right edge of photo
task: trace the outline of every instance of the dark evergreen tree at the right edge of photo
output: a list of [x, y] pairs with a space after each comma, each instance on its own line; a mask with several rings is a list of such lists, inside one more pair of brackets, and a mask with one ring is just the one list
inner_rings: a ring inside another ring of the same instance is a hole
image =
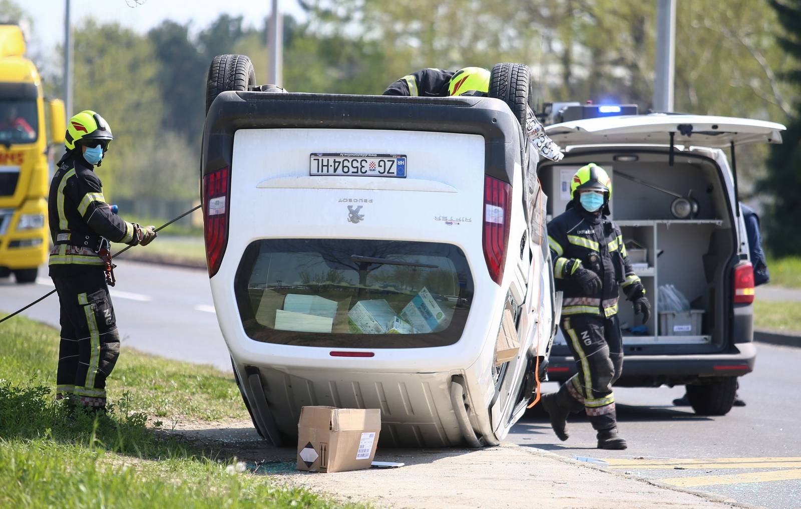
[[[770, 0], [784, 27], [777, 35], [779, 44], [795, 59], [795, 67], [785, 73], [787, 83], [801, 95], [801, 0]], [[801, 252], [801, 99], [796, 96], [784, 143], [771, 147], [768, 174], [761, 182], [773, 200], [767, 208], [767, 244], [777, 256], [798, 255]]]

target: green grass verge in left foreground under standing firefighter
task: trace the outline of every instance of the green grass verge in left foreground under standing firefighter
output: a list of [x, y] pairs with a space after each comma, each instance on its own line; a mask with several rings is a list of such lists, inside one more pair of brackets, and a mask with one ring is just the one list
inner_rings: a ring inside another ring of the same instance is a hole
[[341, 507], [160, 430], [245, 417], [230, 375], [123, 349], [95, 416], [55, 401], [57, 345], [46, 325], [0, 325], [0, 507]]

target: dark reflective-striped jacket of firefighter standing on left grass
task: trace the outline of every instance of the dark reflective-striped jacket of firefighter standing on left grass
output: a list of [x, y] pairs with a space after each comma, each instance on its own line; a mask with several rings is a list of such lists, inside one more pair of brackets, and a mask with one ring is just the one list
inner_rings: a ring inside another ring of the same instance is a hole
[[103, 197], [103, 184], [82, 156], [69, 154], [58, 164], [50, 182], [48, 223], [53, 248], [50, 276], [64, 277], [87, 270], [103, 270], [100, 243], [136, 245], [134, 225], [111, 212]]

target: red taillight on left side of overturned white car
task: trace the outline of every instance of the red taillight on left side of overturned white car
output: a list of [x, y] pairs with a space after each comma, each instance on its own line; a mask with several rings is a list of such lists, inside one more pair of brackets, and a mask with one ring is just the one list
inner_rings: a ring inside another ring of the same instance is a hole
[[228, 168], [203, 176], [203, 232], [206, 236], [208, 277], [219, 270], [228, 242]]

